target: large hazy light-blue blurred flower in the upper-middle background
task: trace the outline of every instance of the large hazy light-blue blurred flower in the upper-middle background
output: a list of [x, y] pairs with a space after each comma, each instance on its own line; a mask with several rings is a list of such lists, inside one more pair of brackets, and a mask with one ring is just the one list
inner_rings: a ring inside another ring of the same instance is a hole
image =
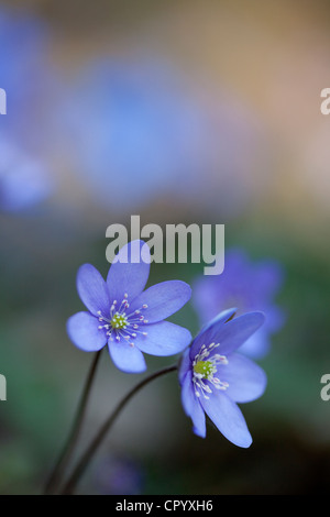
[[86, 67], [67, 111], [78, 170], [109, 207], [136, 208], [200, 165], [201, 112], [155, 63]]

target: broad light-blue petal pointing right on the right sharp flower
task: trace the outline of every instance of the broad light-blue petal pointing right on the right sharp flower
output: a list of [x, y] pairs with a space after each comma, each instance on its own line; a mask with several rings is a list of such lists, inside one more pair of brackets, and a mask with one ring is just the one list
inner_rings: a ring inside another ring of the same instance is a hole
[[265, 372], [241, 354], [232, 354], [228, 361], [217, 372], [217, 376], [229, 384], [226, 395], [237, 403], [249, 403], [261, 397], [267, 384]]

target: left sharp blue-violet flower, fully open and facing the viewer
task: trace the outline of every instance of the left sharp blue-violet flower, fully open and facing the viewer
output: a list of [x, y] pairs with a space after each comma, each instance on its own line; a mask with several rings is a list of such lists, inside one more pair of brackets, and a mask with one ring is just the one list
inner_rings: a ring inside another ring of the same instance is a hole
[[82, 265], [77, 289], [88, 311], [72, 316], [67, 322], [76, 346], [95, 352], [108, 344], [116, 366], [128, 373], [145, 371], [143, 352], [173, 355], [191, 341], [187, 329], [164, 321], [188, 301], [190, 287], [168, 280], [143, 290], [150, 262], [147, 244], [132, 241], [112, 262], [107, 282], [92, 265]]

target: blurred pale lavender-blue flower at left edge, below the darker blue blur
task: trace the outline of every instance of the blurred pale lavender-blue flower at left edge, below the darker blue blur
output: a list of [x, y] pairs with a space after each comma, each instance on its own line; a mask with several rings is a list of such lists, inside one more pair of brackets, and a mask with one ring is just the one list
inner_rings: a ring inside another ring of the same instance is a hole
[[52, 188], [45, 166], [0, 133], [0, 210], [25, 210], [46, 199]]

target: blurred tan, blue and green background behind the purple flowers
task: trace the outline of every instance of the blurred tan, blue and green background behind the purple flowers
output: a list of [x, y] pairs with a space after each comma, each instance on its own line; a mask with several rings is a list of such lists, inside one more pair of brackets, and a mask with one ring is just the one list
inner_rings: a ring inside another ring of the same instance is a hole
[[[0, 2], [0, 493], [42, 493], [91, 361], [65, 329], [76, 272], [106, 275], [106, 229], [136, 213], [223, 223], [227, 249], [276, 261], [285, 324], [260, 360], [265, 395], [242, 406], [250, 449], [211, 425], [195, 437], [172, 374], [127, 407], [78, 492], [328, 493], [329, 16], [326, 0]], [[154, 264], [150, 284], [200, 275]], [[193, 304], [172, 320], [198, 331]], [[105, 351], [80, 448], [142, 377]]]

